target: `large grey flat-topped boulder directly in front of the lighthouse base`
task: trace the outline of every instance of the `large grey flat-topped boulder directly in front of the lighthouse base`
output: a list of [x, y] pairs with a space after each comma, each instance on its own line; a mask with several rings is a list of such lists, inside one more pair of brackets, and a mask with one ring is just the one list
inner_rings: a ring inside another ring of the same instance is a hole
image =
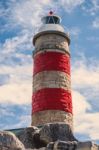
[[46, 144], [49, 142], [61, 141], [77, 141], [72, 134], [71, 128], [65, 123], [48, 123], [43, 126], [40, 131], [40, 139]]

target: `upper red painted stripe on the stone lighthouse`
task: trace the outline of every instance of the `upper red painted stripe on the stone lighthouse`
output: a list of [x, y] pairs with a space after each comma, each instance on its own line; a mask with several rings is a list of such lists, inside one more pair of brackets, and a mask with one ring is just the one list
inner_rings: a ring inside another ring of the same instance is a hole
[[70, 75], [70, 56], [59, 52], [45, 52], [34, 57], [34, 75], [41, 71], [53, 70]]

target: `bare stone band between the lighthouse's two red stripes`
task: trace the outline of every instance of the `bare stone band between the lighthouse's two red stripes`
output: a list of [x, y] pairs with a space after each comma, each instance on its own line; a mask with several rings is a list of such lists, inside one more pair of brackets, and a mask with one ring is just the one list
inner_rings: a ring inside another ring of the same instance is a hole
[[71, 91], [70, 76], [61, 71], [43, 71], [33, 77], [33, 92], [42, 88], [63, 88]]

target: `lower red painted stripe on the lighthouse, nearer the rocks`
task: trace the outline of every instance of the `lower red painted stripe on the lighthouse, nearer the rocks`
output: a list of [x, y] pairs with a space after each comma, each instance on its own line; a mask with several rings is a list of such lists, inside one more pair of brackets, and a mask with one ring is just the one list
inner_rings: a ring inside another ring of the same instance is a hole
[[60, 88], [46, 88], [33, 94], [32, 113], [51, 109], [72, 113], [71, 93]]

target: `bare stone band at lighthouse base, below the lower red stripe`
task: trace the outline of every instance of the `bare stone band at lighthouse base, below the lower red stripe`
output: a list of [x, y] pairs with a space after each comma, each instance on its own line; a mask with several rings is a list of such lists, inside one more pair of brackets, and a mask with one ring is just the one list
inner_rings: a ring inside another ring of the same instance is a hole
[[32, 126], [46, 123], [64, 122], [73, 130], [73, 115], [61, 110], [44, 110], [32, 114]]

